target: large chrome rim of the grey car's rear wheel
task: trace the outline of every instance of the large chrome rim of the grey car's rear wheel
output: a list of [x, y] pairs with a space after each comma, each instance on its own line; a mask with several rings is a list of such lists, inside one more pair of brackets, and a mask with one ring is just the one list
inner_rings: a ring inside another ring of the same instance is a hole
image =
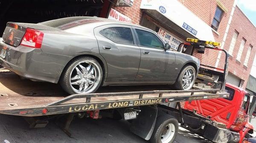
[[76, 93], [91, 93], [99, 85], [99, 66], [90, 60], [76, 64], [70, 73], [70, 86]]

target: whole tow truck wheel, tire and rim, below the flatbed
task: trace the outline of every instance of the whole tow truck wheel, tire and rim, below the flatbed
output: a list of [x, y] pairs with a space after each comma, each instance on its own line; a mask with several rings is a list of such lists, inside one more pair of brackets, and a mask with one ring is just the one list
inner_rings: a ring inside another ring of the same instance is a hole
[[179, 124], [177, 119], [171, 115], [160, 115], [157, 117], [151, 143], [173, 143], [178, 132]]

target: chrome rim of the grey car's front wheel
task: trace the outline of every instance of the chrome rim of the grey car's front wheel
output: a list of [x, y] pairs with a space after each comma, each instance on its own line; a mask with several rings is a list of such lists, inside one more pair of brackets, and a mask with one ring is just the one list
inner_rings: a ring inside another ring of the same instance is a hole
[[194, 80], [195, 80], [195, 70], [192, 68], [187, 69], [182, 78], [183, 89], [189, 90], [193, 86]]

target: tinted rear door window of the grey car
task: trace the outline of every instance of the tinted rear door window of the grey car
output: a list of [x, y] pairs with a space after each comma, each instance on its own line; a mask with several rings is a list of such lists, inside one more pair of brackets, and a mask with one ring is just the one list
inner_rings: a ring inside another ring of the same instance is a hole
[[99, 31], [99, 33], [113, 42], [134, 45], [134, 39], [131, 34], [131, 28], [111, 27], [103, 29]]

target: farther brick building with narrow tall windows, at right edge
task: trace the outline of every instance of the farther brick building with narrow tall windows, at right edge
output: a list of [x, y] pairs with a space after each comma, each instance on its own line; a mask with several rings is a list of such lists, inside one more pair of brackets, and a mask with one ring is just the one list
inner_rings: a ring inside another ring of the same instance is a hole
[[[240, 86], [246, 87], [250, 69], [256, 53], [256, 27], [244, 15], [238, 6], [235, 7], [224, 49], [230, 53], [229, 74], [241, 79]], [[223, 56], [221, 56], [223, 59]], [[223, 65], [223, 60], [218, 66]]]

